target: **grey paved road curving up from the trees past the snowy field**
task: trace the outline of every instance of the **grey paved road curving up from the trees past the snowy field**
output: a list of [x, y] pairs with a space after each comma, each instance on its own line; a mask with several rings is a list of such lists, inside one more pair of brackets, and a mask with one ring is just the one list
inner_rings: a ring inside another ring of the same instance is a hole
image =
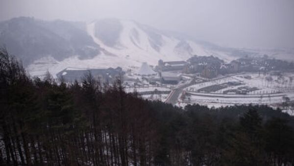
[[230, 77], [230, 76], [233, 76], [235, 74], [230, 74], [230, 75], [227, 75], [227, 76], [224, 76], [224, 77], [221, 77], [221, 78], [216, 78], [216, 79], [211, 79], [211, 80], [203, 80], [201, 82], [197, 82], [195, 83], [196, 79], [201, 79], [201, 78], [197, 78], [197, 77], [194, 77], [191, 82], [187, 83], [187, 84], [183, 84], [183, 85], [180, 85], [176, 88], [174, 88], [172, 90], [172, 92], [170, 93], [170, 95], [168, 96], [167, 100], [165, 101], [165, 103], [169, 103], [169, 104], [172, 104], [172, 105], [175, 105], [177, 100], [178, 100], [178, 97], [179, 95], [182, 93], [183, 89], [191, 86], [191, 85], [194, 85], [194, 84], [200, 84], [200, 83], [204, 83], [204, 82], [209, 82], [209, 81], [216, 81], [216, 80], [219, 80], [219, 79], [223, 79], [223, 78], [226, 78], [226, 77]]

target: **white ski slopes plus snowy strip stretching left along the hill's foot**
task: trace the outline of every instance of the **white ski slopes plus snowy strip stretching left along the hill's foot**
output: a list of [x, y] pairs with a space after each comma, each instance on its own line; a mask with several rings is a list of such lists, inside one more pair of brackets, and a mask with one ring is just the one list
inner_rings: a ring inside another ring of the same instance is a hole
[[73, 55], [61, 61], [46, 56], [27, 67], [30, 74], [42, 75], [49, 71], [54, 75], [67, 67], [136, 69], [143, 62], [154, 66], [160, 59], [187, 60], [193, 55], [214, 55], [226, 61], [236, 58], [230, 51], [209, 49], [193, 40], [180, 39], [134, 21], [99, 20], [86, 24], [86, 32], [100, 47], [96, 56], [80, 59]]

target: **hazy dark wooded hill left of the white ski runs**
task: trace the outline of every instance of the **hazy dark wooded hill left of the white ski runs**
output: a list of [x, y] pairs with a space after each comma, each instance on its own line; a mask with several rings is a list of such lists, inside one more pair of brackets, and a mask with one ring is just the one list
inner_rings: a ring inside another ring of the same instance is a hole
[[52, 22], [20, 17], [0, 23], [0, 47], [19, 57], [25, 66], [51, 56], [57, 61], [73, 55], [92, 58], [100, 48], [83, 29], [83, 23]]

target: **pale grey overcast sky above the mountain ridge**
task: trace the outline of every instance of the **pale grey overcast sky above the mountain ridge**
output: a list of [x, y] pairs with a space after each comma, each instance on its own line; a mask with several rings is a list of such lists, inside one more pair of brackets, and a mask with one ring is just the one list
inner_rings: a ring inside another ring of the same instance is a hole
[[0, 0], [0, 20], [131, 19], [228, 47], [294, 47], [294, 0]]

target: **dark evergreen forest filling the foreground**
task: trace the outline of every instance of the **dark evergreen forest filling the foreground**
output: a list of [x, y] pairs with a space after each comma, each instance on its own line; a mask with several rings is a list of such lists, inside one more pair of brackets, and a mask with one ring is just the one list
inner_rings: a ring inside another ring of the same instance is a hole
[[279, 109], [182, 109], [91, 73], [72, 85], [31, 79], [0, 50], [0, 165], [292, 166], [293, 127]]

